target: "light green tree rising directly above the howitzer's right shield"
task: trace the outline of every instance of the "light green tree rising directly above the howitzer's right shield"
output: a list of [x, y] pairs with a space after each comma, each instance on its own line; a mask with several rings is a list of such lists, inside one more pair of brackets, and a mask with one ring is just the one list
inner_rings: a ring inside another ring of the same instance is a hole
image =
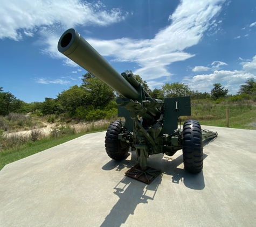
[[189, 86], [185, 83], [165, 83], [162, 86], [164, 97], [182, 97], [182, 96], [190, 96], [191, 90]]

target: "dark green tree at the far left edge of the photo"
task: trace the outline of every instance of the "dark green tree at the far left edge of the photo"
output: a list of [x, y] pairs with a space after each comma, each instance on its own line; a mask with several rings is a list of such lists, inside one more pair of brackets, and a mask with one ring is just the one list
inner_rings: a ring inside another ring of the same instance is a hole
[[3, 92], [3, 87], [0, 87], [0, 103], [0, 115], [8, 115], [10, 112], [18, 112], [22, 101], [9, 92]]

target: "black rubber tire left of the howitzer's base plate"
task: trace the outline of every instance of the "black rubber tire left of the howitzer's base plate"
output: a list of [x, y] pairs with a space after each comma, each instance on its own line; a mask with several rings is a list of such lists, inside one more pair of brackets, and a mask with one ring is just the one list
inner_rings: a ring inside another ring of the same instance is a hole
[[[122, 122], [124, 125], [125, 122]], [[122, 132], [120, 120], [112, 122], [105, 137], [105, 148], [108, 156], [115, 160], [122, 160], [129, 151], [129, 144], [118, 139], [118, 134]]]

